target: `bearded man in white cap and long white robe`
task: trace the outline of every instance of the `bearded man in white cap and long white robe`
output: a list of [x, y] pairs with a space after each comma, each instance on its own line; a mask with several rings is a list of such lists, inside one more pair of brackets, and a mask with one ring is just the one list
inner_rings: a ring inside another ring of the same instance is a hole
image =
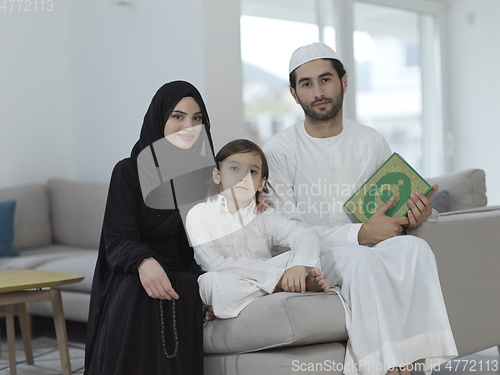
[[[347, 77], [330, 47], [297, 49], [289, 74], [290, 93], [305, 120], [264, 148], [271, 200], [279, 211], [312, 225], [320, 238], [323, 274], [346, 310], [344, 373], [406, 375], [417, 360], [425, 359], [429, 370], [455, 357], [434, 254], [425, 241], [398, 236], [403, 226], [427, 220], [428, 198], [412, 196], [403, 218], [385, 215], [391, 198], [367, 223], [353, 223], [344, 202], [391, 150], [374, 129], [343, 119]], [[375, 246], [363, 246], [369, 244]], [[380, 364], [383, 370], [373, 370]]]

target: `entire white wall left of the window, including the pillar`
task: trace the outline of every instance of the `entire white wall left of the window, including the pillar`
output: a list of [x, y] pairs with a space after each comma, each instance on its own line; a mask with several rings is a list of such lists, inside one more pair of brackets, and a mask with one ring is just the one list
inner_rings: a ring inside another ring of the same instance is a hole
[[239, 2], [117, 3], [0, 12], [0, 186], [108, 181], [172, 80], [204, 96], [216, 149], [242, 136]]

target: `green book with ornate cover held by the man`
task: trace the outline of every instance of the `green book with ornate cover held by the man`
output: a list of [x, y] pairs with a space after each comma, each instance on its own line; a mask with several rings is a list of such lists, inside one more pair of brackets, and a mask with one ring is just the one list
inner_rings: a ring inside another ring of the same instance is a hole
[[344, 203], [344, 207], [360, 222], [368, 219], [394, 196], [387, 216], [403, 217], [410, 209], [410, 195], [419, 191], [428, 196], [434, 189], [398, 153], [389, 159]]

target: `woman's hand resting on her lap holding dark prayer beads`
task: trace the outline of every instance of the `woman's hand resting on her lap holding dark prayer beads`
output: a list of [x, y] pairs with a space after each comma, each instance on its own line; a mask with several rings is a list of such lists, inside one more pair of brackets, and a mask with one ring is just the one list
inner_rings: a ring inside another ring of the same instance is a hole
[[139, 278], [144, 290], [151, 298], [178, 299], [179, 295], [172, 288], [163, 267], [155, 258], [144, 259], [139, 267]]

